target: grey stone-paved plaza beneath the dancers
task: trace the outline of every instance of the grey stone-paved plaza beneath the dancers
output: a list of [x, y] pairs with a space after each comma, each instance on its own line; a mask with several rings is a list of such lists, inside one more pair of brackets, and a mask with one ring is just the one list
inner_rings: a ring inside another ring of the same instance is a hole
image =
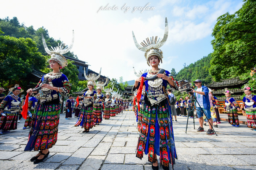
[[[74, 116], [74, 114], [72, 115]], [[241, 124], [232, 127], [222, 121], [216, 135], [196, 132], [195, 119], [178, 116], [174, 122], [174, 138], [178, 160], [175, 170], [256, 170], [256, 131]], [[37, 152], [24, 151], [29, 129], [18, 129], [0, 136], [0, 165], [2, 170], [151, 170], [147, 156], [135, 157], [138, 140], [137, 122], [133, 111], [123, 111], [103, 122], [89, 133], [74, 127], [77, 118], [65, 119], [61, 114], [58, 141], [45, 162], [34, 165], [29, 159]], [[204, 130], [208, 130], [205, 127]], [[159, 160], [159, 156], [158, 156]], [[159, 161], [158, 161], [159, 162]], [[162, 169], [162, 168], [160, 168]]]

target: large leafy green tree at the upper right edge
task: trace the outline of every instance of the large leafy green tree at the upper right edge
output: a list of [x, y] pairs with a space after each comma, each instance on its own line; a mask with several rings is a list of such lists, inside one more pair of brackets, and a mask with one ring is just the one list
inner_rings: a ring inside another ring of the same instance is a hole
[[244, 2], [234, 14], [218, 17], [214, 26], [209, 71], [216, 81], [240, 75], [256, 65], [256, 1]]

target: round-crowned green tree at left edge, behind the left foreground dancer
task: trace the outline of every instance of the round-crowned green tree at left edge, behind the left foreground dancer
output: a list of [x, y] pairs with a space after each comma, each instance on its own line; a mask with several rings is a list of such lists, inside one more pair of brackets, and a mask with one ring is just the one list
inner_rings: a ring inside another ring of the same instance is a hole
[[37, 52], [31, 38], [0, 36], [0, 80], [13, 81], [25, 79], [33, 68], [46, 67], [46, 56]]

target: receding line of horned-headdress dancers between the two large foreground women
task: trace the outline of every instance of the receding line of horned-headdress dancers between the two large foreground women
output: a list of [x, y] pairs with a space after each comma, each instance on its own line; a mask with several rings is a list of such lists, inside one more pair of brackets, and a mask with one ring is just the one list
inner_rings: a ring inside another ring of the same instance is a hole
[[[92, 127], [101, 123], [102, 118], [109, 119], [110, 116], [116, 116], [128, 106], [127, 101], [122, 101], [122, 94], [113, 91], [114, 86], [112, 86], [112, 89], [104, 88], [107, 80], [105, 83], [95, 82], [100, 77], [100, 73], [98, 76], [95, 74], [85, 75], [88, 80], [87, 87], [89, 90], [82, 96], [77, 97], [77, 106], [81, 105], [81, 109], [78, 115], [79, 118], [74, 126], [82, 126], [84, 128], [82, 132], [89, 132]], [[97, 92], [93, 90], [94, 86], [96, 86]], [[101, 93], [102, 89], [106, 92], [106, 97]], [[110, 98], [110, 93], [112, 93], [112, 99]]]

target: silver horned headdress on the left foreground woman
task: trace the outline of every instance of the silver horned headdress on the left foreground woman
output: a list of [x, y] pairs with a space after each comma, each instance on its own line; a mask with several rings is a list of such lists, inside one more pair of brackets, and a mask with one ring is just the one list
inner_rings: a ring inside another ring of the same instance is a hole
[[71, 48], [73, 47], [74, 30], [72, 32], [72, 41], [71, 41], [70, 46], [65, 47], [65, 44], [58, 44], [57, 47], [53, 48], [51, 46], [52, 49], [48, 49], [45, 39], [43, 37], [43, 34], [42, 34], [42, 40], [43, 40], [43, 47], [44, 47], [45, 51], [51, 55], [51, 58], [48, 60], [48, 62], [50, 62], [50, 60], [54, 60], [54, 61], [58, 62], [58, 64], [61, 65], [61, 68], [64, 68], [68, 64], [68, 62], [67, 62], [66, 58], [63, 56], [63, 54], [66, 54], [67, 52], [69, 52], [71, 50]]

